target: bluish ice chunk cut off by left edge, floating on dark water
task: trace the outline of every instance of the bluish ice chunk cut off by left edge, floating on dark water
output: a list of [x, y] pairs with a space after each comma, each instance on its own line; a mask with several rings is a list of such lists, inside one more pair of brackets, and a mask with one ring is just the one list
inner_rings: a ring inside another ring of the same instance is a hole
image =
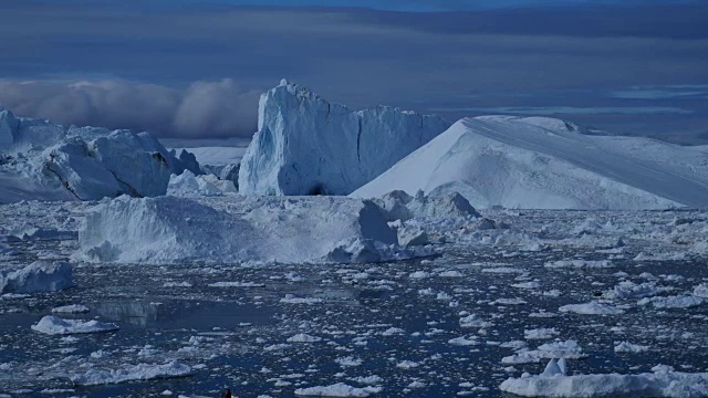
[[66, 262], [39, 260], [8, 274], [0, 273], [0, 293], [55, 292], [73, 284], [72, 268]]

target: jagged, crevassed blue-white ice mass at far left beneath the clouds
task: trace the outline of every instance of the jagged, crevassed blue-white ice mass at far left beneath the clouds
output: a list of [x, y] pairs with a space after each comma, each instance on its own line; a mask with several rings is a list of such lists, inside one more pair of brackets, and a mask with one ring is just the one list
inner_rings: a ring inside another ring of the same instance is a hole
[[198, 172], [194, 156], [177, 157], [149, 133], [64, 129], [0, 112], [0, 202], [165, 195], [185, 168]]

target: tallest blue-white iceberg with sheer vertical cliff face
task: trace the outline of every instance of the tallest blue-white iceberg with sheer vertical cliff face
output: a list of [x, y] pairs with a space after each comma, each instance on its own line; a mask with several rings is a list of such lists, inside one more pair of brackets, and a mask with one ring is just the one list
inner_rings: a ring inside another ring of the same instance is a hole
[[348, 195], [448, 127], [437, 116], [398, 108], [350, 111], [283, 80], [260, 98], [239, 190]]

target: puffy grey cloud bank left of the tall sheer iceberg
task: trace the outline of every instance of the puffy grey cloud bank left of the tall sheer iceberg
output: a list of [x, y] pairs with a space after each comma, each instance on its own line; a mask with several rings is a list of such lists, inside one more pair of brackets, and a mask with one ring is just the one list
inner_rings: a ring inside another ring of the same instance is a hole
[[121, 80], [0, 81], [0, 105], [19, 116], [163, 137], [250, 137], [258, 96], [231, 78], [197, 81], [185, 90]]

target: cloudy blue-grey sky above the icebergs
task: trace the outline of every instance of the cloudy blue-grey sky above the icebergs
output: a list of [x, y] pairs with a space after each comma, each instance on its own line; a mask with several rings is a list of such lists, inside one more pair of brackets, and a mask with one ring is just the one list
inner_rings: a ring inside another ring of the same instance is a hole
[[248, 139], [280, 78], [454, 122], [544, 115], [708, 144], [708, 3], [0, 0], [0, 106]]

